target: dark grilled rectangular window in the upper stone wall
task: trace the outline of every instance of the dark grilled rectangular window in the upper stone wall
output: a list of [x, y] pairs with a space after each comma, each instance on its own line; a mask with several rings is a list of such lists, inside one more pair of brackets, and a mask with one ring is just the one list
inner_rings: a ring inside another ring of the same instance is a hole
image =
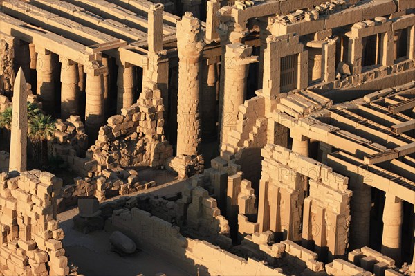
[[281, 92], [297, 89], [298, 55], [288, 55], [281, 59]]

